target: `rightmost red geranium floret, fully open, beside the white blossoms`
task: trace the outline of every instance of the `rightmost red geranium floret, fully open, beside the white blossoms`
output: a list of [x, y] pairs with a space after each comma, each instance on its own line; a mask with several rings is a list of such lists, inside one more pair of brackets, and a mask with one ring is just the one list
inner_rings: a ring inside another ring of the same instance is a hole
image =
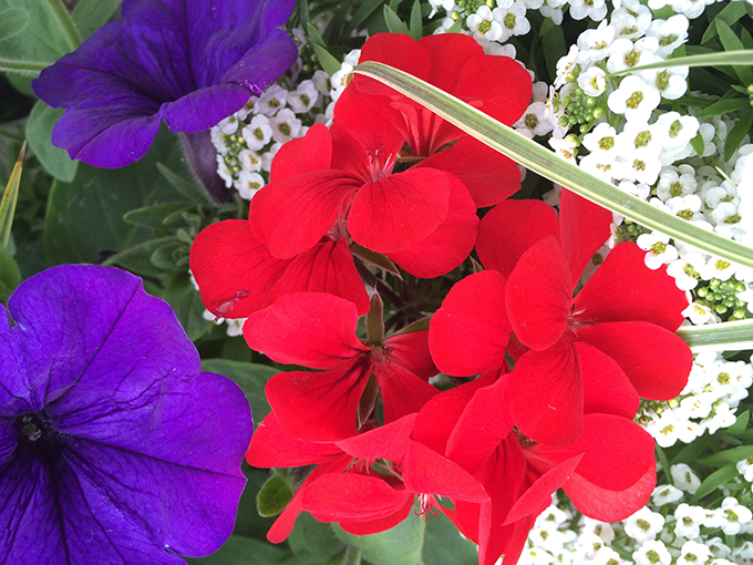
[[573, 298], [585, 265], [609, 235], [610, 218], [568, 191], [559, 223], [544, 203], [502, 203], [484, 217], [476, 244], [493, 270], [453, 287], [432, 319], [432, 356], [450, 374], [499, 367], [514, 332], [516, 357], [525, 352], [509, 377], [510, 412], [535, 441], [568, 445], [580, 438], [576, 342], [617, 361], [644, 398], [674, 398], [687, 383], [692, 355], [674, 335], [685, 296], [663, 269], [646, 267], [635, 244], [617, 246]]

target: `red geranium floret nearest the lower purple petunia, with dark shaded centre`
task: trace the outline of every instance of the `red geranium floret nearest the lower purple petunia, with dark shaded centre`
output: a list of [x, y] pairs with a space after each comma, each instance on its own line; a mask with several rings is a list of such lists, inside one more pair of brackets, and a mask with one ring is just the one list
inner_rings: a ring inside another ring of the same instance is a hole
[[436, 369], [426, 331], [367, 345], [355, 335], [357, 323], [353, 304], [322, 292], [280, 297], [246, 321], [252, 349], [281, 363], [322, 369], [281, 372], [267, 383], [269, 403], [293, 438], [333, 442], [354, 435], [373, 411], [376, 389], [386, 423], [416, 412], [437, 392], [427, 382]]

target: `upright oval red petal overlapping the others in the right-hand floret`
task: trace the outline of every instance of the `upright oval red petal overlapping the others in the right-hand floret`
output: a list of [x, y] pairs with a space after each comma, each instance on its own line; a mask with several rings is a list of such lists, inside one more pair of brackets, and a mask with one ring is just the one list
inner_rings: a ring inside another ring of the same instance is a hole
[[570, 268], [557, 239], [547, 236], [523, 254], [507, 279], [507, 318], [520, 342], [540, 351], [561, 338], [571, 305]]

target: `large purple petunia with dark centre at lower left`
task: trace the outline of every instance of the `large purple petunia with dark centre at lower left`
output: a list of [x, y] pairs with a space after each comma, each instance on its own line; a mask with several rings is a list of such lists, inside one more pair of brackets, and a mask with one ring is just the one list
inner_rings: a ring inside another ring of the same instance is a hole
[[179, 564], [227, 540], [251, 414], [167, 304], [110, 267], [0, 305], [0, 563]]

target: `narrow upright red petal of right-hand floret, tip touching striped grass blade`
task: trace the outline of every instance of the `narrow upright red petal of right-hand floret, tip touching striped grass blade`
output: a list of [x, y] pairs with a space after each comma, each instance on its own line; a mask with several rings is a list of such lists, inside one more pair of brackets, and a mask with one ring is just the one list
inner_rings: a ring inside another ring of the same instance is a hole
[[559, 230], [563, 249], [573, 274], [570, 291], [578, 285], [586, 264], [609, 238], [611, 220], [612, 215], [608, 209], [563, 189], [559, 202]]

